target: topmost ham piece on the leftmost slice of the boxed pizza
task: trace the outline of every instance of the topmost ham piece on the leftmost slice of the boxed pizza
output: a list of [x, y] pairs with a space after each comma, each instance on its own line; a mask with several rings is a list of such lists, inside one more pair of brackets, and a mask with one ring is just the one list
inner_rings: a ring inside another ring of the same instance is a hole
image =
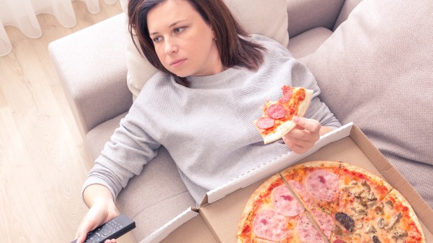
[[293, 197], [286, 185], [277, 186], [272, 194], [275, 210], [284, 216], [296, 216], [304, 211], [304, 207]]

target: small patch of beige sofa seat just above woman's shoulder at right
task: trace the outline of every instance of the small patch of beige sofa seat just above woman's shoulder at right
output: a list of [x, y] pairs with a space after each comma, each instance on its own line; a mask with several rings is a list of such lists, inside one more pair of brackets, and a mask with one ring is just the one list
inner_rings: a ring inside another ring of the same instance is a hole
[[287, 48], [295, 59], [299, 59], [304, 64], [307, 64], [309, 55], [313, 54], [331, 35], [332, 31], [325, 27], [310, 29], [291, 38]]

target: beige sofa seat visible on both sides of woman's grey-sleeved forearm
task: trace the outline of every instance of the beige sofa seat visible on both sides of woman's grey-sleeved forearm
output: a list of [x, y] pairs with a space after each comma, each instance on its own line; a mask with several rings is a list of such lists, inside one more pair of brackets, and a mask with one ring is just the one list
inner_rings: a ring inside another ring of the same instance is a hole
[[[91, 159], [101, 154], [105, 142], [110, 140], [125, 115], [105, 121], [89, 131], [86, 142]], [[116, 205], [140, 226], [132, 231], [139, 242], [188, 207], [195, 207], [196, 201], [182, 182], [167, 149], [160, 147], [158, 155], [145, 165], [140, 175], [130, 179], [128, 186], [119, 193]]]

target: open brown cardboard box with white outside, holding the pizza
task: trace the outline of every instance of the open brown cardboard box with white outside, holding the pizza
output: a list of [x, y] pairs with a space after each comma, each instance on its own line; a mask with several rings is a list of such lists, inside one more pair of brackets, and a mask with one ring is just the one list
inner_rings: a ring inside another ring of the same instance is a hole
[[281, 155], [209, 191], [198, 209], [186, 209], [142, 242], [236, 242], [244, 207], [265, 179], [288, 166], [319, 160], [351, 163], [386, 179], [411, 203], [423, 226], [425, 241], [433, 242], [433, 210], [352, 123], [323, 136], [306, 154]]

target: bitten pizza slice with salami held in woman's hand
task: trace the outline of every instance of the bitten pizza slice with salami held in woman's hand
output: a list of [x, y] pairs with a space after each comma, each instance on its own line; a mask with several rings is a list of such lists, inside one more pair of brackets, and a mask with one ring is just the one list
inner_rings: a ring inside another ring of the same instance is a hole
[[279, 140], [295, 128], [293, 117], [303, 117], [311, 103], [311, 89], [284, 85], [281, 90], [281, 98], [266, 101], [262, 117], [254, 121], [265, 144]]

